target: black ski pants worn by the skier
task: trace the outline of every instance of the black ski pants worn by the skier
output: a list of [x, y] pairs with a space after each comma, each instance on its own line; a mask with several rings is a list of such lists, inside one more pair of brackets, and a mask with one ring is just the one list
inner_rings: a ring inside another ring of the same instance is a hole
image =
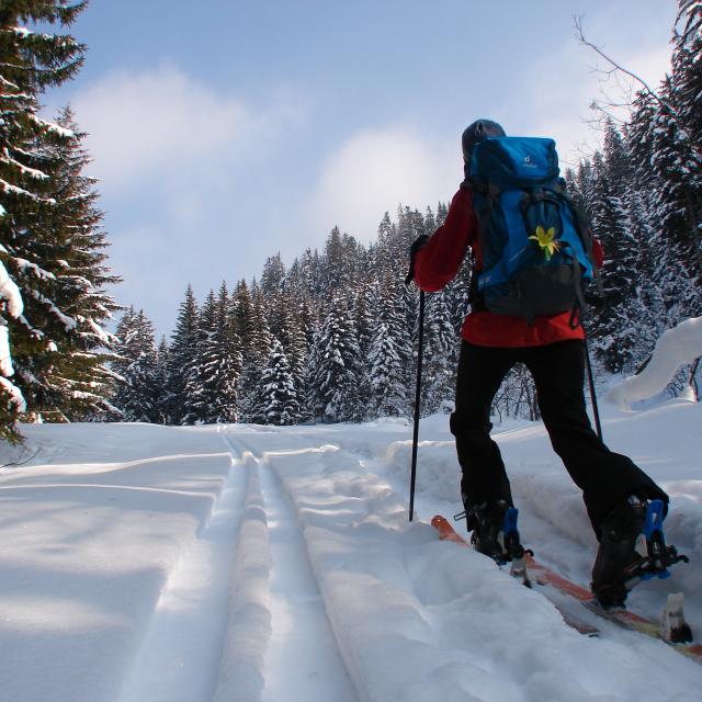
[[667, 508], [668, 496], [631, 458], [610, 451], [592, 430], [585, 405], [582, 341], [514, 349], [463, 341], [451, 432], [463, 472], [461, 491], [466, 511], [498, 499], [513, 506], [505, 463], [490, 439], [490, 406], [505, 376], [519, 362], [534, 378], [551, 443], [582, 490], [598, 537], [602, 520], [630, 495], [660, 499]]

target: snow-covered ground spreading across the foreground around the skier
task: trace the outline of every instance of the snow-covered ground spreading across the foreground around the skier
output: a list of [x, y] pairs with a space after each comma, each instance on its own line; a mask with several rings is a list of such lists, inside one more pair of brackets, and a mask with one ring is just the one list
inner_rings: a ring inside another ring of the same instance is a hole
[[[702, 407], [602, 408], [672, 497], [671, 589], [702, 636]], [[539, 590], [429, 524], [462, 507], [445, 415], [411, 426], [24, 426], [1, 448], [0, 679], [23, 702], [699, 699], [702, 667]], [[498, 426], [524, 542], [587, 585], [595, 539], [541, 423]], [[22, 455], [20, 455], [22, 451]], [[36, 455], [35, 452], [37, 452]], [[32, 456], [27, 462], [27, 456]], [[588, 620], [591, 621], [591, 620]]]

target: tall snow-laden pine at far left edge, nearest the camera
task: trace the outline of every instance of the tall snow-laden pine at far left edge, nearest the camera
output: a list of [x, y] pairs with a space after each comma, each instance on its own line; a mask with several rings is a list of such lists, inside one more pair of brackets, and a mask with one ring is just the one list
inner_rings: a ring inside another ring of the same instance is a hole
[[[21, 390], [9, 380], [14, 371], [10, 354], [21, 356], [16, 365], [27, 384], [32, 383], [32, 366], [46, 366], [43, 356], [55, 353], [39, 328], [43, 320], [32, 313], [36, 307], [54, 314], [37, 290], [38, 283], [50, 278], [44, 258], [50, 233], [43, 227], [55, 205], [47, 192], [52, 162], [45, 147], [69, 135], [38, 116], [38, 95], [72, 78], [86, 50], [70, 35], [35, 33], [23, 24], [63, 29], [86, 4], [64, 0], [3, 0], [0, 4], [0, 299], [4, 301], [0, 313], [0, 434], [7, 438], [18, 438], [14, 422], [26, 409]], [[22, 298], [25, 305], [33, 301], [24, 316]]]

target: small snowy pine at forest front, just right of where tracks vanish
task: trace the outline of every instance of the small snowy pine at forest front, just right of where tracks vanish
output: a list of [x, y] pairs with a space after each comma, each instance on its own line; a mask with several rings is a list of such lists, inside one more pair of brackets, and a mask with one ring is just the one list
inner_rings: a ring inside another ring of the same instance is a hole
[[273, 338], [250, 421], [284, 426], [296, 424], [299, 419], [301, 407], [293, 373], [283, 344]]

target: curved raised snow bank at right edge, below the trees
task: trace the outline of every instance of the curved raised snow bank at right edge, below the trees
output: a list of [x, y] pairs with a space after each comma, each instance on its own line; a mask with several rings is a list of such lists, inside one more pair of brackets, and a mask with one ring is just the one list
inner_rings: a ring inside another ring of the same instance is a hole
[[702, 317], [692, 317], [665, 331], [648, 365], [613, 387], [605, 399], [626, 409], [637, 400], [661, 393], [681, 365], [702, 355]]

